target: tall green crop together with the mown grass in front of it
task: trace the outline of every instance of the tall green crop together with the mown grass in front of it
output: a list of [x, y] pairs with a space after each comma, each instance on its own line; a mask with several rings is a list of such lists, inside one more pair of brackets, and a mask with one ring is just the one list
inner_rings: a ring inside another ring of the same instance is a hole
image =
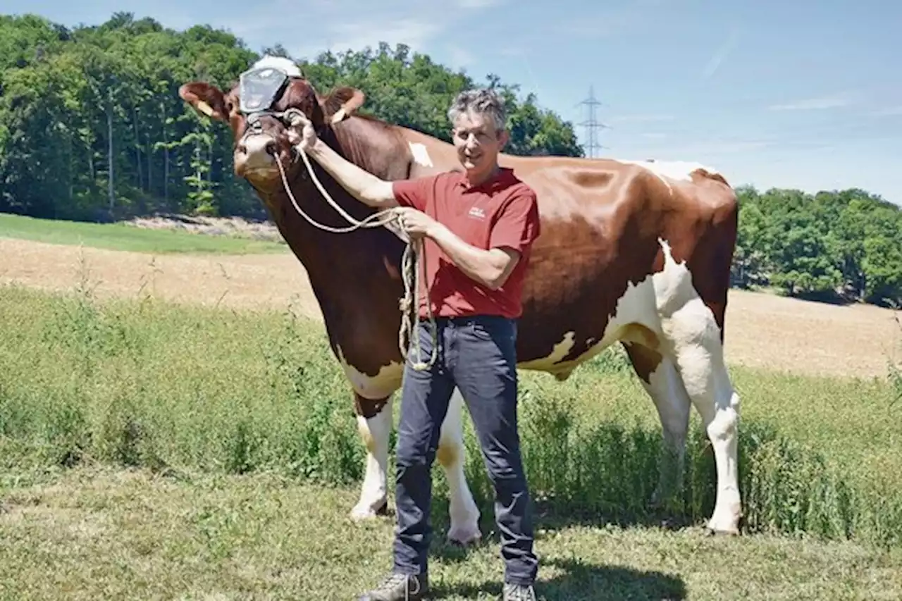
[[[9, 596], [350, 598], [388, 565], [391, 521], [346, 521], [364, 448], [320, 325], [7, 286], [0, 332], [0, 583]], [[732, 374], [746, 514], [735, 541], [695, 528], [714, 498], [695, 415], [684, 490], [666, 515], [647, 508], [658, 419], [621, 352], [566, 383], [523, 374], [548, 599], [899, 596], [893, 386]], [[469, 424], [466, 435], [490, 532], [491, 491]], [[442, 532], [440, 470], [435, 479]], [[689, 527], [668, 532], [665, 518]], [[494, 542], [470, 557], [438, 543], [436, 552], [445, 598], [497, 590]]]

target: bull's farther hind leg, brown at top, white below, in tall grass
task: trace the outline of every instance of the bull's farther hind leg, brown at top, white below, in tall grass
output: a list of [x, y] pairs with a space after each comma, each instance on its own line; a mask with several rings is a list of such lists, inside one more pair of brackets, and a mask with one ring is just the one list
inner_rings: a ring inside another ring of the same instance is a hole
[[692, 401], [672, 359], [638, 344], [626, 344], [624, 347], [642, 386], [655, 403], [661, 421], [664, 444], [661, 447], [658, 486], [651, 496], [651, 503], [662, 506], [671, 495], [683, 490], [686, 431]]

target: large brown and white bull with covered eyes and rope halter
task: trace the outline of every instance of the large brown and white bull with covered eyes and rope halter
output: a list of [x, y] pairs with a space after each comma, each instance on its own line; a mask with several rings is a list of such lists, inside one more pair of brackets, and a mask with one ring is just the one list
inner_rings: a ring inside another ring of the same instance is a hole
[[[454, 147], [426, 134], [354, 115], [364, 95], [337, 88], [318, 95], [289, 60], [267, 57], [290, 79], [272, 111], [297, 108], [337, 153], [383, 180], [459, 169]], [[366, 518], [387, 504], [391, 399], [401, 384], [398, 347], [404, 243], [384, 227], [333, 234], [293, 207], [276, 161], [299, 206], [319, 223], [347, 226], [328, 206], [291, 147], [286, 126], [263, 115], [248, 127], [238, 88], [194, 81], [179, 96], [235, 136], [235, 173], [251, 183], [317, 296], [329, 343], [354, 391], [368, 455], [359, 503]], [[723, 177], [695, 163], [626, 162], [502, 155], [538, 193], [542, 235], [524, 290], [517, 352], [522, 369], [566, 379], [605, 347], [620, 342], [658, 410], [665, 442], [655, 497], [682, 482], [690, 407], [713, 445], [717, 499], [707, 526], [737, 533], [740, 398], [723, 358], [723, 319], [736, 242], [738, 205]], [[316, 162], [327, 192], [357, 219], [373, 209], [350, 197]], [[442, 426], [437, 460], [450, 488], [449, 540], [480, 537], [479, 513], [464, 474], [463, 399], [455, 394]], [[668, 471], [676, 470], [676, 478]]]

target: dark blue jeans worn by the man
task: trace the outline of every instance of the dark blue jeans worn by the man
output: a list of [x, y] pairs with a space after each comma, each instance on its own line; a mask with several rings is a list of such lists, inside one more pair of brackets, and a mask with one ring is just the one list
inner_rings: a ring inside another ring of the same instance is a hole
[[[532, 550], [531, 502], [517, 430], [517, 323], [495, 316], [439, 318], [437, 322], [440, 344], [435, 365], [418, 372], [409, 360], [404, 368], [396, 458], [395, 571], [428, 571], [430, 472], [441, 423], [457, 386], [473, 419], [495, 489], [505, 581], [531, 585], [538, 559]], [[419, 322], [415, 335], [421, 356], [427, 358], [432, 352], [428, 324]]]

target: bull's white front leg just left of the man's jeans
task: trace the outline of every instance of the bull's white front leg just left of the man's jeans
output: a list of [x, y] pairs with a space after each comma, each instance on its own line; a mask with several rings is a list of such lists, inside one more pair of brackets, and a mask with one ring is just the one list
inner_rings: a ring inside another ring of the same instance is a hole
[[366, 446], [366, 473], [360, 500], [351, 510], [351, 518], [364, 520], [383, 513], [388, 505], [391, 396], [380, 402], [357, 396], [354, 406], [357, 410], [357, 430]]

